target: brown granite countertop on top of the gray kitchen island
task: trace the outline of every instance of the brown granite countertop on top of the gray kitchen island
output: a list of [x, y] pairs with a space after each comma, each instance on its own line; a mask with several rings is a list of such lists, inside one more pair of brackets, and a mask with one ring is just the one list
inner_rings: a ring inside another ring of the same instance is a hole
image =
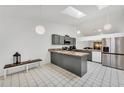
[[64, 54], [64, 55], [69, 55], [69, 56], [77, 56], [77, 57], [84, 57], [84, 56], [89, 55], [89, 53], [67, 51], [67, 50], [62, 50], [62, 49], [49, 49], [48, 51], [49, 52], [60, 53], [60, 54]]

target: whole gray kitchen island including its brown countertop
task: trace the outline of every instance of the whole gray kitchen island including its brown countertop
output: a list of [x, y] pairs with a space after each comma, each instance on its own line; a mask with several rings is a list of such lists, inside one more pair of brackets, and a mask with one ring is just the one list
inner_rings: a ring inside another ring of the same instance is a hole
[[49, 49], [51, 63], [60, 66], [80, 77], [87, 72], [88, 53], [67, 51], [62, 49]]

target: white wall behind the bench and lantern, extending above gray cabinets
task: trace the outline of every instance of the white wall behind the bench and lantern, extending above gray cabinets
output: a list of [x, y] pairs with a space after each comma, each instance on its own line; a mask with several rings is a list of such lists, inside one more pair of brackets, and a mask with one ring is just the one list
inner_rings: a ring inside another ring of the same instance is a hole
[[[39, 24], [46, 28], [44, 35], [35, 33], [35, 26]], [[67, 34], [75, 37], [71, 25], [42, 20], [0, 18], [0, 69], [5, 64], [13, 63], [12, 55], [16, 51], [21, 53], [22, 61], [41, 58], [44, 62], [50, 62], [48, 49], [62, 47], [51, 45], [51, 34]]]

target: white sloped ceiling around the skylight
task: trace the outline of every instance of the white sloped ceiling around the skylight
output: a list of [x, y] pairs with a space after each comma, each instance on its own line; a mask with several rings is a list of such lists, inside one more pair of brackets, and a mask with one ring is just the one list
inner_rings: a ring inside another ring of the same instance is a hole
[[76, 19], [61, 13], [67, 5], [26, 5], [26, 6], [0, 6], [0, 17], [17, 17], [30, 19], [43, 19], [56, 23], [78, 24], [83, 35], [99, 34], [97, 29], [103, 28], [107, 14], [110, 15], [110, 23], [113, 28], [104, 33], [123, 32], [124, 30], [124, 6], [110, 6], [101, 11], [95, 5], [72, 5], [87, 16]]

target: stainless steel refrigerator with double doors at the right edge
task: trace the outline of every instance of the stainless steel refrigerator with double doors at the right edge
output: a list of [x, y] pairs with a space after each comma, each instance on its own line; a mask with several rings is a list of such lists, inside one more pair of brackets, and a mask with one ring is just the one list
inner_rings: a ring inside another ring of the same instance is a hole
[[103, 47], [109, 47], [103, 52], [102, 64], [124, 70], [124, 37], [104, 38]]

